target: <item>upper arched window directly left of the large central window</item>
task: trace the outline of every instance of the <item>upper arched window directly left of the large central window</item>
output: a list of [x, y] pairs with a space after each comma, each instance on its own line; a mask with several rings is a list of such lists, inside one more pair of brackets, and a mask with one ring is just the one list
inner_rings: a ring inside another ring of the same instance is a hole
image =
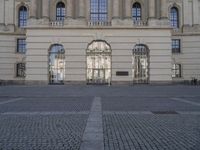
[[65, 4], [63, 2], [59, 2], [56, 5], [56, 20], [57, 21], [65, 20]]

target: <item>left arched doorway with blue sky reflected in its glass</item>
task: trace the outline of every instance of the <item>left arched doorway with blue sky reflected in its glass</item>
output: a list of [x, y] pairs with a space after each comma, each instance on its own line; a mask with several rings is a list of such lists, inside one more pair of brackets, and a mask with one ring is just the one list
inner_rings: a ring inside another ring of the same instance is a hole
[[65, 50], [62, 45], [54, 44], [49, 50], [49, 83], [63, 84], [65, 77]]

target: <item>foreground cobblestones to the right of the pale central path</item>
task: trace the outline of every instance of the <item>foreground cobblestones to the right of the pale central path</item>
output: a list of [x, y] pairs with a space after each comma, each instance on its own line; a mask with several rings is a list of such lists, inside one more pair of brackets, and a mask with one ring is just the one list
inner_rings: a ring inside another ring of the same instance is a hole
[[104, 114], [105, 150], [199, 150], [200, 116]]

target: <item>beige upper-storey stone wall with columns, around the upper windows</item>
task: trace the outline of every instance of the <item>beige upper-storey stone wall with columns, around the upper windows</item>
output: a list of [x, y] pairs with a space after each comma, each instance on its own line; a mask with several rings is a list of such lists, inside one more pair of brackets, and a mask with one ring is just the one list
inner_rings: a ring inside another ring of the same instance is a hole
[[[87, 21], [90, 18], [89, 0], [62, 0], [67, 9], [67, 17], [77, 19], [85, 17]], [[55, 20], [55, 8], [58, 0], [1, 0], [0, 1], [0, 24], [17, 25], [18, 8], [25, 5], [28, 8], [29, 16], [41, 19], [49, 17]], [[200, 23], [200, 2], [198, 0], [108, 0], [108, 20], [113, 17], [126, 19], [131, 17], [131, 7], [135, 2], [142, 6], [142, 19], [148, 20], [148, 17], [157, 19], [167, 17], [169, 8], [176, 6], [179, 9], [181, 25], [197, 25]], [[83, 3], [83, 4], [81, 4]], [[116, 6], [118, 5], [118, 6]]]

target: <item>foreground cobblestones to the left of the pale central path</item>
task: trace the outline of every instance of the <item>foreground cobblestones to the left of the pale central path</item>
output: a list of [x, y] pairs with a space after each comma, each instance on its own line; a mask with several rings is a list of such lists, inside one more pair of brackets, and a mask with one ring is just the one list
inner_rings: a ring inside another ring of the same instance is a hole
[[0, 150], [77, 150], [87, 115], [3, 115]]

